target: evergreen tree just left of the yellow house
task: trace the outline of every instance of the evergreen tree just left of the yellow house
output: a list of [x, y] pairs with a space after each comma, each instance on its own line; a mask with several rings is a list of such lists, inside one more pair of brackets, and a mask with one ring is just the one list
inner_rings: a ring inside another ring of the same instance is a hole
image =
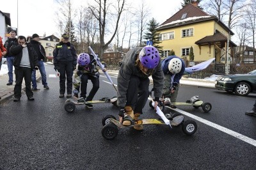
[[[159, 46], [157, 44], [161, 43], [159, 42], [159, 33], [156, 33], [156, 27], [159, 25], [159, 23], [156, 22], [154, 18], [150, 20], [147, 24], [147, 30], [148, 32], [145, 33], [144, 38], [147, 41], [151, 41], [154, 47], [156, 47], [159, 50], [159, 53], [161, 54], [163, 46]], [[146, 42], [145, 42], [146, 43]]]

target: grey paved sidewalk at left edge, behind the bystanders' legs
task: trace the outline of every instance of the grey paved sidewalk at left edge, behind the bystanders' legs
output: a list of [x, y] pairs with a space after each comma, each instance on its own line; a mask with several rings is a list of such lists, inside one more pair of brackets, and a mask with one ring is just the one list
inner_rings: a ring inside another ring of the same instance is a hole
[[[36, 71], [36, 81], [41, 79], [41, 74], [39, 71]], [[15, 82], [13, 82], [12, 86], [7, 86], [9, 76], [8, 74], [0, 75], [0, 103], [3, 102], [5, 99], [11, 98], [14, 95], [14, 86]], [[13, 72], [13, 81], [15, 81], [15, 74]], [[22, 91], [25, 88], [25, 81], [22, 81]]]

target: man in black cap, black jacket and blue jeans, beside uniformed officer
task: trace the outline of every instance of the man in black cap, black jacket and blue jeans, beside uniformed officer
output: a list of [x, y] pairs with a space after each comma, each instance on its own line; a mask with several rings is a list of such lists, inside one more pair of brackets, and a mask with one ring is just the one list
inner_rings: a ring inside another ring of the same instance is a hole
[[[45, 72], [45, 67], [44, 67], [44, 60], [45, 60], [45, 50], [43, 45], [38, 42], [40, 40], [39, 36], [37, 34], [32, 35], [33, 40], [31, 40], [31, 45], [36, 51], [37, 58], [38, 58], [38, 68], [41, 73], [42, 77], [42, 84], [45, 89], [49, 89], [49, 86], [46, 81], [46, 72]], [[37, 85], [36, 85], [36, 70], [34, 69], [32, 72], [32, 90], [38, 90]]]

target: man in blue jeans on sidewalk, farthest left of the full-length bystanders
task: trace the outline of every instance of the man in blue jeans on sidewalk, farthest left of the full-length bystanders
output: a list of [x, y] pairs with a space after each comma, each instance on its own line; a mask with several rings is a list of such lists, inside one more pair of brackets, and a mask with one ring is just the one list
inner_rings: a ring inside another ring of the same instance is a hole
[[8, 40], [6, 40], [6, 42], [4, 43], [4, 48], [6, 48], [6, 50], [7, 50], [6, 61], [7, 61], [7, 66], [8, 66], [8, 75], [9, 75], [9, 81], [6, 84], [7, 86], [12, 85], [12, 83], [13, 83], [14, 56], [13, 56], [12, 52], [10, 51], [10, 47], [12, 47], [12, 45], [18, 45], [18, 40], [17, 40], [17, 38], [15, 38], [15, 36], [16, 36], [16, 32], [11, 31], [10, 38], [8, 38]]

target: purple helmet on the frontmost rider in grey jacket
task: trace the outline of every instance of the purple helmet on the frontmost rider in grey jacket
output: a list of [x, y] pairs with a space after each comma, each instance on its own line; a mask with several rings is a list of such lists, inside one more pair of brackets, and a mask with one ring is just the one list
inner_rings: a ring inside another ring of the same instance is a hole
[[156, 47], [147, 45], [141, 49], [139, 59], [145, 68], [156, 68], [159, 63], [159, 52]]

